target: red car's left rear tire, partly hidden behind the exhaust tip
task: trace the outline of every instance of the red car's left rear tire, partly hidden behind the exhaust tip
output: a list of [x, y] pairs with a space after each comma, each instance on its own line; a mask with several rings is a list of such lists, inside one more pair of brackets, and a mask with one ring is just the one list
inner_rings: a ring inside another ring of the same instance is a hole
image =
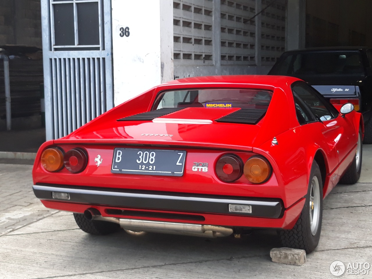
[[88, 220], [84, 214], [74, 213], [76, 224], [79, 228], [89, 234], [105, 235], [119, 231], [120, 225], [113, 222]]

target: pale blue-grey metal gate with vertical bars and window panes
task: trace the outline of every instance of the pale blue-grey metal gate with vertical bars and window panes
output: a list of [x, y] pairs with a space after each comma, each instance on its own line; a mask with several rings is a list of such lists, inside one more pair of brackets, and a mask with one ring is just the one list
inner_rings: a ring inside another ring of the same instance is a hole
[[113, 107], [110, 2], [41, 0], [47, 140]]

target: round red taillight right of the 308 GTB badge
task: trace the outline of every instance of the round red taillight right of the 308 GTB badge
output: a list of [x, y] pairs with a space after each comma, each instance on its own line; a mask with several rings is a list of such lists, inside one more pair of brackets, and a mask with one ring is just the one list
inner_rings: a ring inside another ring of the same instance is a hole
[[243, 174], [243, 161], [235, 154], [223, 155], [216, 164], [216, 173], [224, 182], [233, 182]]

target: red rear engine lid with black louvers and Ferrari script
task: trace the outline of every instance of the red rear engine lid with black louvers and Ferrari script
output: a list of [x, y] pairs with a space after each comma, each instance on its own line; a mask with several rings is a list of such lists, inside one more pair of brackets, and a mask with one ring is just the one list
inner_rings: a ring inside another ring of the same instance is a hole
[[183, 108], [138, 113], [84, 132], [74, 132], [55, 143], [120, 145], [178, 145], [251, 150], [264, 109]]

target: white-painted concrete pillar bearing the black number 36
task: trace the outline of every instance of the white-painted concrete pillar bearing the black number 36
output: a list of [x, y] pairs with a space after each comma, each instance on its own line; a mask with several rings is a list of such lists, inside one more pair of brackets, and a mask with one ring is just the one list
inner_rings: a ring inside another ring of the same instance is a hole
[[173, 80], [173, 1], [112, 0], [114, 104]]

